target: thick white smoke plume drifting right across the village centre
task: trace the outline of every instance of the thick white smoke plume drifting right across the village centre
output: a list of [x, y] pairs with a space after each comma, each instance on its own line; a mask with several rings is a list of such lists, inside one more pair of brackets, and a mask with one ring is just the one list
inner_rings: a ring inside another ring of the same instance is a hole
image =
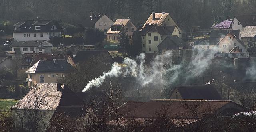
[[200, 76], [211, 65], [214, 53], [216, 50], [188, 50], [187, 55], [181, 58], [177, 52], [165, 51], [156, 55], [149, 66], [145, 65], [144, 53], [134, 59], [126, 57], [122, 64], [124, 67], [114, 63], [110, 71], [89, 81], [83, 92], [93, 86], [99, 87], [106, 77], [137, 76], [142, 87], [154, 84], [162, 88], [164, 85], [178, 85], [177, 82], [186, 83]]

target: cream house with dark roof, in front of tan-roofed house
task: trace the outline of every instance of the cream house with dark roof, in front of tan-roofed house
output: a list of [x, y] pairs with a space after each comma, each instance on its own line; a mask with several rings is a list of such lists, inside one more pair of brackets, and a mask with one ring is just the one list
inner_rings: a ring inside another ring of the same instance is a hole
[[179, 30], [177, 26], [157, 26], [147, 25], [141, 31], [142, 40], [142, 52], [144, 53], [156, 53], [158, 51], [157, 46], [167, 36], [179, 36]]

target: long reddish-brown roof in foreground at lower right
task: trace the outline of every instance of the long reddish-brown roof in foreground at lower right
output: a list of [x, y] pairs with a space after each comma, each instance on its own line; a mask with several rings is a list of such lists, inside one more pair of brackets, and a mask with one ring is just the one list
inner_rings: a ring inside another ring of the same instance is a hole
[[[227, 104], [234, 104], [227, 105]], [[194, 119], [192, 111], [188, 109], [189, 106], [198, 105], [198, 116], [203, 116], [205, 112], [215, 112], [218, 110], [222, 113], [221, 116], [228, 116], [243, 111], [244, 108], [239, 104], [232, 101], [208, 101], [208, 100], [150, 100], [134, 108], [134, 110], [128, 112], [124, 115], [125, 118], [158, 118], [156, 112], [168, 112], [172, 118], [184, 118], [184, 119]], [[220, 108], [226, 106], [229, 108], [228, 111], [221, 110]], [[242, 110], [240, 110], [240, 109]]]

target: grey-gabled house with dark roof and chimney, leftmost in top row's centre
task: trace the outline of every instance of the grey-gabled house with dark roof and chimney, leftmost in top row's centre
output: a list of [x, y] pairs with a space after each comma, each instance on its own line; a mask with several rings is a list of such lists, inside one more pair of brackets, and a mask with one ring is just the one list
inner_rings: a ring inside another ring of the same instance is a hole
[[99, 30], [104, 31], [104, 33], [106, 34], [112, 24], [114, 24], [114, 22], [105, 14], [94, 14], [92, 12], [90, 19], [87, 19], [84, 22], [83, 26], [98, 28]]

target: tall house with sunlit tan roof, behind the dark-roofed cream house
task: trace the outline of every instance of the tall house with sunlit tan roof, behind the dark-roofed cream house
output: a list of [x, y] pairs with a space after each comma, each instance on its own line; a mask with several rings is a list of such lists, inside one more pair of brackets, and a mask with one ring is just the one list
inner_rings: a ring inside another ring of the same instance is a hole
[[178, 24], [172, 19], [169, 13], [155, 13], [152, 12], [150, 16], [148, 17], [148, 20], [146, 20], [145, 24], [142, 26], [142, 30], [147, 26], [147, 25], [158, 25], [158, 26], [177, 26], [179, 30], [178, 37], [181, 38], [182, 31]]

